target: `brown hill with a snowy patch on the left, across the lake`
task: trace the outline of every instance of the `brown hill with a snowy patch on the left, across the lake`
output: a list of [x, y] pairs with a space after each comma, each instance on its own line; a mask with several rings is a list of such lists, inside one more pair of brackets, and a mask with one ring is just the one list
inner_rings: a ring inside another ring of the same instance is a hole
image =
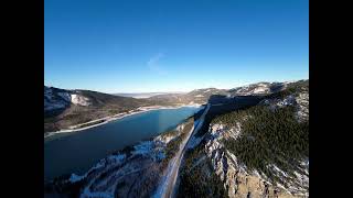
[[152, 105], [154, 103], [145, 99], [44, 86], [44, 132], [69, 129], [92, 120]]

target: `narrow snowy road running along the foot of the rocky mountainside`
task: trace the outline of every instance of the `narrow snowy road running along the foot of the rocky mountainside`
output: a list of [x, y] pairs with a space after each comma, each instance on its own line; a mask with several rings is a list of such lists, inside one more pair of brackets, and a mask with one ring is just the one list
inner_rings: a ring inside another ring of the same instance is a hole
[[186, 150], [186, 144], [188, 144], [190, 138], [192, 135], [194, 135], [201, 129], [201, 127], [202, 127], [202, 124], [204, 122], [204, 118], [205, 118], [205, 116], [207, 114], [207, 112], [210, 110], [210, 107], [211, 107], [211, 105], [207, 103], [206, 109], [204, 110], [204, 112], [200, 117], [200, 121], [199, 121], [196, 128], [193, 127], [190, 130], [189, 136], [180, 145], [180, 150], [178, 151], [176, 155], [171, 161], [167, 178], [165, 178], [165, 180], [163, 182], [163, 184], [161, 186], [161, 191], [158, 193], [158, 195], [156, 197], [162, 197], [162, 198], [171, 198], [171, 197], [173, 197], [174, 186], [175, 186], [176, 178], [178, 178], [178, 173], [179, 173], [179, 167], [180, 167], [180, 163], [181, 163], [181, 161], [182, 161], [182, 158], [184, 156], [184, 153], [185, 153], [185, 150]]

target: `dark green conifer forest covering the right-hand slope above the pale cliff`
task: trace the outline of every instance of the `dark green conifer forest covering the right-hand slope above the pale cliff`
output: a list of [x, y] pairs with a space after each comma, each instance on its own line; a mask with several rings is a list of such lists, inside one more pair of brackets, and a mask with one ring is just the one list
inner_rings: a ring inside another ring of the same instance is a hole
[[292, 174], [300, 172], [299, 161], [309, 157], [309, 121], [298, 122], [295, 108], [270, 110], [256, 106], [217, 117], [214, 123], [227, 128], [240, 123], [240, 136], [224, 140], [227, 150], [237, 156], [249, 169], [263, 172], [272, 182], [278, 177], [267, 167], [276, 165]]

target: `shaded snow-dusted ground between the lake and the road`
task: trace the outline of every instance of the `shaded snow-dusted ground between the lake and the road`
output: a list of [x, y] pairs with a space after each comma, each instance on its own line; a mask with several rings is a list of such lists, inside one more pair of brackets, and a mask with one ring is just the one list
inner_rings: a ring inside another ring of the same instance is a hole
[[152, 197], [167, 179], [169, 163], [174, 161], [193, 119], [150, 141], [142, 141], [111, 154], [83, 175], [54, 179], [46, 184], [49, 194], [81, 198]]

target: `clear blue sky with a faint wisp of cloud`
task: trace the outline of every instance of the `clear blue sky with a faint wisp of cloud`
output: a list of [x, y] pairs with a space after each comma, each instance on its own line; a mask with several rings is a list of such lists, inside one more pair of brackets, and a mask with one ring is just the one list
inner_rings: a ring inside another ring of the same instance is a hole
[[308, 0], [44, 1], [47, 86], [189, 91], [308, 78]]

